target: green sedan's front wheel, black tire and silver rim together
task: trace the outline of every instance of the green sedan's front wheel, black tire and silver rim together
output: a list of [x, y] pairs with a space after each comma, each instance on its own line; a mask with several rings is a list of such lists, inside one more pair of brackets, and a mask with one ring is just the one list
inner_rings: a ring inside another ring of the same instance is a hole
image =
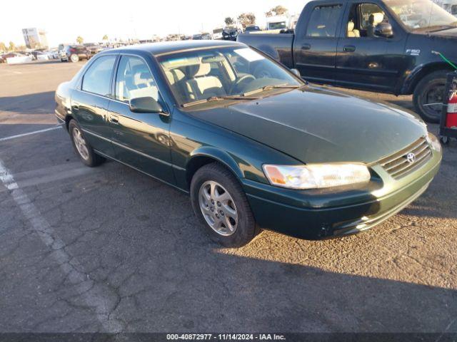
[[211, 239], [224, 247], [242, 247], [258, 229], [238, 180], [217, 162], [201, 167], [191, 182], [191, 202]]

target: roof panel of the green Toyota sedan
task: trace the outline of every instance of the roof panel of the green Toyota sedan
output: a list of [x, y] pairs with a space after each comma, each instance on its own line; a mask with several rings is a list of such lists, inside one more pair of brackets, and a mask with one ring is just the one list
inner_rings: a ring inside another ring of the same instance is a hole
[[246, 47], [243, 43], [236, 41], [161, 41], [157, 43], [139, 44], [132, 46], [123, 46], [121, 48], [114, 48], [102, 53], [132, 53], [132, 52], [146, 52], [151, 53], [153, 56], [160, 56], [168, 53], [189, 51], [200, 48], [219, 48], [224, 46], [240, 46]]

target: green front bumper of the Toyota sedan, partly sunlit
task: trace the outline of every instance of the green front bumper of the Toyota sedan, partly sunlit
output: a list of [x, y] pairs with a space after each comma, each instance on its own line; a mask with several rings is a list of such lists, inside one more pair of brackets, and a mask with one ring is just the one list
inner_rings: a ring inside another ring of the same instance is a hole
[[365, 188], [296, 191], [250, 180], [243, 187], [261, 228], [301, 239], [341, 237], [380, 224], [422, 195], [441, 165], [442, 152], [432, 152], [426, 165], [402, 180], [373, 167], [381, 178]]

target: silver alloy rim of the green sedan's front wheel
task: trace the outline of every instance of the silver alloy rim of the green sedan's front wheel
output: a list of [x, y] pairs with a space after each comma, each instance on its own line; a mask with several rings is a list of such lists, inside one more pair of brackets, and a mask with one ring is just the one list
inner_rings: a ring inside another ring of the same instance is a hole
[[199, 190], [199, 206], [214, 232], [228, 237], [238, 226], [238, 212], [230, 193], [218, 182], [204, 182]]

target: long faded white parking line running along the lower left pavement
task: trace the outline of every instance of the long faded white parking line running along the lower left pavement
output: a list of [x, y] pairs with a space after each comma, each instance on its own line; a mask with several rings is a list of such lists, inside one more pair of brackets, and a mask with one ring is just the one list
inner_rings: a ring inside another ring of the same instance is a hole
[[89, 274], [81, 271], [83, 267], [79, 262], [68, 254], [64, 247], [65, 243], [54, 232], [49, 222], [41, 216], [33, 202], [29, 199], [26, 193], [21, 190], [19, 185], [14, 180], [13, 175], [4, 166], [0, 160], [0, 181], [10, 191], [14, 202], [21, 209], [24, 217], [29, 221], [31, 228], [38, 234], [41, 241], [52, 250], [52, 257], [59, 264], [61, 271], [67, 276], [76, 287], [76, 291], [81, 295], [81, 298], [86, 302], [86, 305], [94, 308], [96, 318], [104, 328], [104, 332], [119, 333], [123, 330], [121, 321], [116, 320], [110, 314], [113, 305], [110, 305], [109, 299], [106, 299], [104, 290], [100, 286], [96, 286]]

